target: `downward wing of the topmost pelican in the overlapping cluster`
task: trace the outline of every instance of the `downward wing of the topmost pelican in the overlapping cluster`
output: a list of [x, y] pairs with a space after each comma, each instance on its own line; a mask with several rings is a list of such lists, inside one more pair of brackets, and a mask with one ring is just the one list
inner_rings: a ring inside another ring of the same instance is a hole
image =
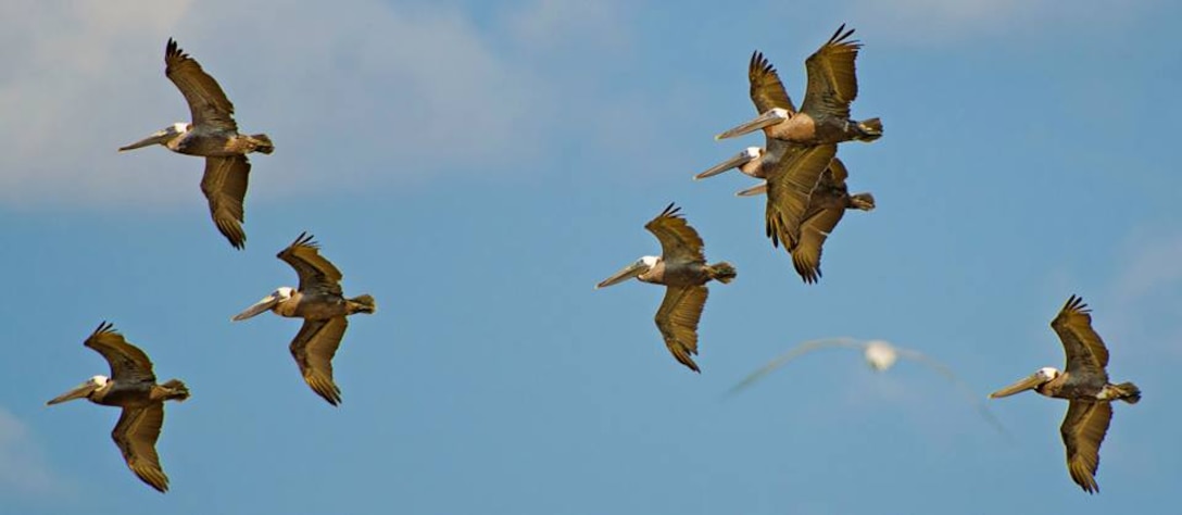
[[775, 163], [767, 177], [767, 236], [772, 245], [784, 242], [786, 250], [795, 248], [800, 226], [817, 181], [837, 155], [837, 145], [792, 146]]

